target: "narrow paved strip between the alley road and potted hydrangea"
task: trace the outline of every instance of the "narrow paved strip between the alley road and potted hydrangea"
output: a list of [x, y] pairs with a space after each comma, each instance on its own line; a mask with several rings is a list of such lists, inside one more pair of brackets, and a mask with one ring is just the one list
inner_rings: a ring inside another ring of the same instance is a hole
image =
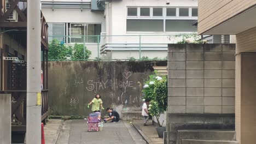
[[164, 139], [159, 138], [155, 126], [152, 123], [150, 124], [150, 122], [148, 122], [148, 126], [143, 126], [143, 123], [144, 121], [141, 119], [133, 121], [133, 125], [143, 135], [144, 139], [146, 139], [149, 144], [164, 143]]

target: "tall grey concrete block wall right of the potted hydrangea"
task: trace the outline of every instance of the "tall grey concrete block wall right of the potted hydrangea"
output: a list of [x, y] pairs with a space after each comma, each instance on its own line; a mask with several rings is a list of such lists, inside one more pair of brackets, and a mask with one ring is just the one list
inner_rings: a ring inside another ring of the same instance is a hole
[[168, 47], [170, 143], [177, 129], [234, 129], [235, 44]]

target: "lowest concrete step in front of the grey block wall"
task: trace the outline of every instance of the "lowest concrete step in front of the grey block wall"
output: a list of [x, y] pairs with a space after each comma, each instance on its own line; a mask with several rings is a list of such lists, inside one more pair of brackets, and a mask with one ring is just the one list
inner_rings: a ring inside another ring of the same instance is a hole
[[183, 139], [182, 144], [239, 144], [237, 141], [217, 141], [217, 140], [190, 140]]

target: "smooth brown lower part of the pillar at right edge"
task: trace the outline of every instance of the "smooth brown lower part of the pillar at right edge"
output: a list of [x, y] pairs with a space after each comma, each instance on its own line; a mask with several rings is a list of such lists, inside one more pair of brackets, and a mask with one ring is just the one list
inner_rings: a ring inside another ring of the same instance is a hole
[[236, 139], [256, 141], [256, 53], [236, 55]]

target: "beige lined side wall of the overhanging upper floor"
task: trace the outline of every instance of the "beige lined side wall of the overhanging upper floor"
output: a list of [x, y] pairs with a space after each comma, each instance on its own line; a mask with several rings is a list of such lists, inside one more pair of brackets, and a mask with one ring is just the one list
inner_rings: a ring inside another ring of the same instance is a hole
[[199, 0], [198, 33], [208, 31], [255, 4], [255, 0]]

